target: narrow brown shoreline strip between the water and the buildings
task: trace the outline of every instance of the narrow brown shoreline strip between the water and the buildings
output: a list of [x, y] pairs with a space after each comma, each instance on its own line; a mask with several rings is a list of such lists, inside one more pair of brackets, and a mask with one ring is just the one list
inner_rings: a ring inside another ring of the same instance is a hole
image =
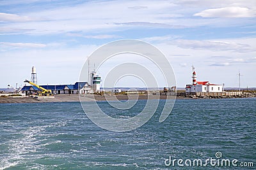
[[[114, 95], [114, 96], [100, 96], [100, 95], [92, 95], [86, 94], [81, 95], [81, 101], [83, 102], [90, 102], [90, 101], [125, 101], [125, 100], [152, 100], [152, 99], [173, 99], [174, 96], [158, 96], [158, 95]], [[255, 96], [253, 96], [255, 97]], [[236, 96], [236, 97], [183, 97], [183, 96], [176, 96], [176, 99], [234, 99], [234, 98], [252, 98], [252, 97], [244, 97], [244, 96]], [[77, 94], [70, 94], [70, 95], [56, 95], [54, 98], [38, 98], [35, 97], [0, 97], [0, 104], [1, 103], [65, 103], [65, 102], [80, 102], [79, 96]]]

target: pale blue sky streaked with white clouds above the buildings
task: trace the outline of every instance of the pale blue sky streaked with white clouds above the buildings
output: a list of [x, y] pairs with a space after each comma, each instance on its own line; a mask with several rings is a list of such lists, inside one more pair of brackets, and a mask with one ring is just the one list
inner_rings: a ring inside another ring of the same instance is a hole
[[191, 83], [192, 65], [198, 81], [238, 87], [240, 72], [241, 87], [256, 87], [255, 17], [255, 0], [1, 0], [0, 87], [22, 87], [32, 66], [41, 85], [75, 83], [87, 56], [118, 39], [159, 48], [177, 87]]

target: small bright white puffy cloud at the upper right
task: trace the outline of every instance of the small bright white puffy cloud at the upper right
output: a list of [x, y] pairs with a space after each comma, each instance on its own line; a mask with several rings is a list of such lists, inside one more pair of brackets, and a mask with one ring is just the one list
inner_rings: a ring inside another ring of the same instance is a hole
[[255, 12], [249, 8], [231, 6], [224, 8], [215, 8], [195, 13], [193, 16], [198, 17], [227, 17], [227, 18], [244, 18], [244, 17], [255, 17]]

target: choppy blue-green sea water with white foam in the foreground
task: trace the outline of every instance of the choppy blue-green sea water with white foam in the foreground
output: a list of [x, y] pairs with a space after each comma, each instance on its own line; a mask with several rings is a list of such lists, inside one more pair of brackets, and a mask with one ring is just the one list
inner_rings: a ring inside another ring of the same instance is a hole
[[[163, 103], [147, 124], [122, 133], [97, 127], [80, 103], [0, 104], [0, 169], [205, 169], [164, 160], [205, 160], [216, 152], [255, 169], [256, 99], [177, 100], [160, 124]], [[122, 114], [134, 116], [143, 105]]]

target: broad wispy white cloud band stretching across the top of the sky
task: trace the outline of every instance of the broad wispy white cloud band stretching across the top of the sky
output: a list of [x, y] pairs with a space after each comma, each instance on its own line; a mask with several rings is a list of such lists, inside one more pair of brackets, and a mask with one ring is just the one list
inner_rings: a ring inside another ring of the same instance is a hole
[[[204, 4], [204, 6], [198, 5], [195, 8], [191, 8], [191, 5], [194, 3]], [[234, 3], [228, 1], [228, 3], [232, 5], [236, 3], [236, 5], [241, 6], [246, 4], [242, 1], [234, 1]], [[90, 32], [90, 34], [92, 32], [106, 31], [108, 33], [104, 32], [101, 34], [113, 34], [109, 32], [138, 29], [141, 27], [166, 29], [182, 29], [205, 25], [227, 27], [230, 25], [243, 25], [246, 22], [253, 25], [250, 18], [244, 19], [242, 23], [239, 20], [234, 21], [227, 18], [191, 18], [191, 15], [196, 13], [196, 11], [212, 7], [214, 7], [212, 10], [221, 9], [216, 8], [217, 4], [225, 6], [228, 3], [205, 3], [204, 1], [181, 1], [181, 3], [170, 1], [86, 1], [74, 4], [60, 3], [60, 6], [50, 6], [49, 3], [44, 3], [42, 7], [36, 6], [35, 3], [35, 8], [31, 10], [28, 10], [26, 6], [21, 6], [22, 10], [20, 8], [17, 10], [15, 8], [11, 9], [10, 11], [16, 12], [16, 14], [7, 14], [12, 15], [8, 20], [12, 20], [14, 23], [3, 22], [1, 24], [3, 24], [3, 27], [20, 29], [20, 33], [23, 34], [36, 35], [60, 34], [72, 31]], [[252, 9], [255, 8], [252, 1], [248, 3], [249, 5], [250, 8], [251, 6]], [[228, 9], [228, 7], [225, 8]], [[250, 8], [246, 9], [253, 11]], [[207, 10], [205, 11], [207, 12]], [[241, 11], [243, 12], [243, 10]], [[17, 12], [19, 12], [19, 15], [17, 15]], [[251, 15], [251, 12], [249, 14]], [[6, 16], [2, 17], [4, 17], [4, 20], [7, 20]], [[34, 22], [26, 22], [29, 20]]]

